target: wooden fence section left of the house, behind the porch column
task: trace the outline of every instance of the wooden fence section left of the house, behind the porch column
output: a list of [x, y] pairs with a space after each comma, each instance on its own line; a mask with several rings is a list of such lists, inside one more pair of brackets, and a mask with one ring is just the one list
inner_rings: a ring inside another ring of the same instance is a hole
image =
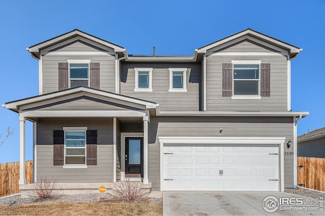
[[[32, 183], [32, 160], [25, 161], [26, 183]], [[19, 162], [0, 164], [0, 197], [20, 193]]]

